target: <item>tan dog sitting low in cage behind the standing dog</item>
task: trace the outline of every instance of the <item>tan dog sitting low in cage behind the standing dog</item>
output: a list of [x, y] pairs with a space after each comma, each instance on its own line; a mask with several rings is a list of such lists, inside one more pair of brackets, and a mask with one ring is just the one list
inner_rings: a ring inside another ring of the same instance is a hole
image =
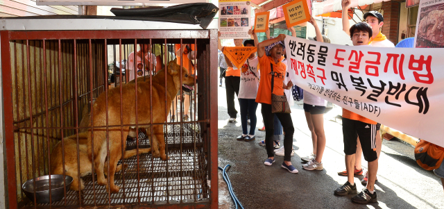
[[[78, 182], [78, 169], [77, 169], [77, 135], [71, 135], [63, 139], [63, 147], [65, 147], [65, 175], [71, 176], [73, 181], [71, 183], [71, 190], [78, 191], [83, 190], [85, 185], [80, 178], [80, 184]], [[149, 153], [151, 148], [139, 149], [139, 154]], [[87, 132], [78, 134], [78, 156], [80, 163], [80, 177], [92, 174], [92, 162], [87, 156]], [[123, 153], [123, 158], [130, 158], [137, 155], [137, 150], [127, 150]], [[121, 169], [128, 167], [128, 165], [120, 164], [116, 167], [115, 172], [121, 171]], [[105, 172], [108, 172], [108, 163], [105, 163], [103, 167]], [[63, 158], [62, 158], [62, 142], [58, 142], [51, 152], [51, 174], [63, 174]], [[108, 175], [107, 175], [108, 176]]]

